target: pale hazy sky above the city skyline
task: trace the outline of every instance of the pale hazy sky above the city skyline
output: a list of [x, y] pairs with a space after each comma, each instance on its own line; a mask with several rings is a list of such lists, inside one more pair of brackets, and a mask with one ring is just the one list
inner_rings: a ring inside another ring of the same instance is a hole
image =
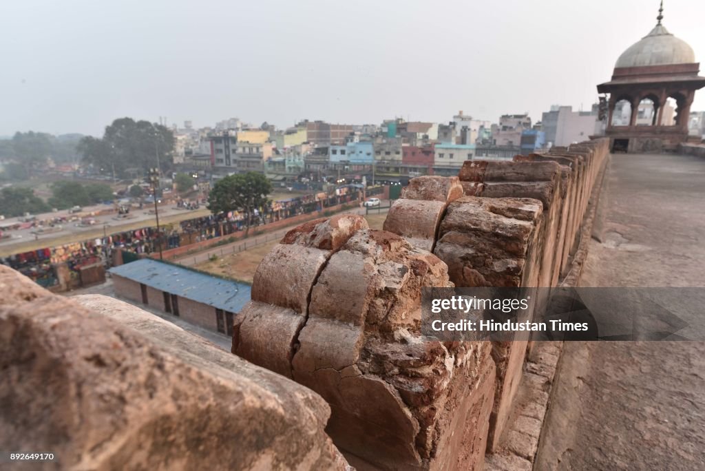
[[[663, 24], [705, 62], [705, 1]], [[588, 109], [655, 0], [0, 0], [0, 135]], [[705, 109], [705, 90], [694, 110]]]

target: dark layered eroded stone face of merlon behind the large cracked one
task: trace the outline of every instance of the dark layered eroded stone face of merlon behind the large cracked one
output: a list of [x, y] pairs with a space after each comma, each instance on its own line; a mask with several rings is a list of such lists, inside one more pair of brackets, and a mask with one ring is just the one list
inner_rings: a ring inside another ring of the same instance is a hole
[[[530, 198], [462, 197], [448, 206], [434, 253], [458, 287], [537, 286], [543, 204]], [[493, 342], [496, 388], [488, 449], [498, 446], [512, 410], [526, 340]]]

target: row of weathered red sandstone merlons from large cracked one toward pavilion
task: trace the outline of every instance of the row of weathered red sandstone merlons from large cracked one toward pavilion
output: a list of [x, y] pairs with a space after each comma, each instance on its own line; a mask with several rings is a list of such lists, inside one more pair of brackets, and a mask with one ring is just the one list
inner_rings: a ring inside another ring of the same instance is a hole
[[[384, 223], [398, 238], [357, 228], [338, 231], [340, 245], [321, 247], [310, 234], [335, 232], [330, 223], [302, 226], [258, 267], [253, 302], [235, 320], [233, 353], [320, 393], [331, 405], [329, 433], [353, 464], [482, 468], [484, 448], [498, 446], [510, 420], [529, 342], [434, 350], [414, 321], [417, 290], [444, 280], [556, 286], [607, 156], [608, 140], [594, 140], [510, 162], [467, 161], [459, 178], [415, 178]], [[417, 273], [412, 253], [427, 254], [432, 279], [398, 278]], [[272, 284], [281, 276], [293, 278]], [[404, 316], [379, 318], [397, 310]], [[424, 345], [424, 354], [410, 345]], [[408, 369], [467, 352], [470, 369]], [[405, 355], [412, 360], [400, 361]]]

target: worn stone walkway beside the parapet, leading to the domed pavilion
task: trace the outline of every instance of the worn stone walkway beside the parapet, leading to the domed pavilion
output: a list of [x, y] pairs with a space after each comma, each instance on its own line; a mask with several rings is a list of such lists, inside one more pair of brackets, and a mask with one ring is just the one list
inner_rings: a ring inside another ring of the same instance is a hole
[[[582, 286], [705, 286], [705, 159], [615, 155]], [[705, 342], [567, 342], [540, 470], [705, 469]]]

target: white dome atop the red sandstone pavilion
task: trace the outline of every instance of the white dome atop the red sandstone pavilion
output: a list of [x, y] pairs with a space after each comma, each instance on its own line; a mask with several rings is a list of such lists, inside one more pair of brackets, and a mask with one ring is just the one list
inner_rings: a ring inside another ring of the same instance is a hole
[[675, 63], [694, 63], [693, 49], [678, 39], [660, 23], [644, 39], [623, 52], [615, 68], [667, 66]]

